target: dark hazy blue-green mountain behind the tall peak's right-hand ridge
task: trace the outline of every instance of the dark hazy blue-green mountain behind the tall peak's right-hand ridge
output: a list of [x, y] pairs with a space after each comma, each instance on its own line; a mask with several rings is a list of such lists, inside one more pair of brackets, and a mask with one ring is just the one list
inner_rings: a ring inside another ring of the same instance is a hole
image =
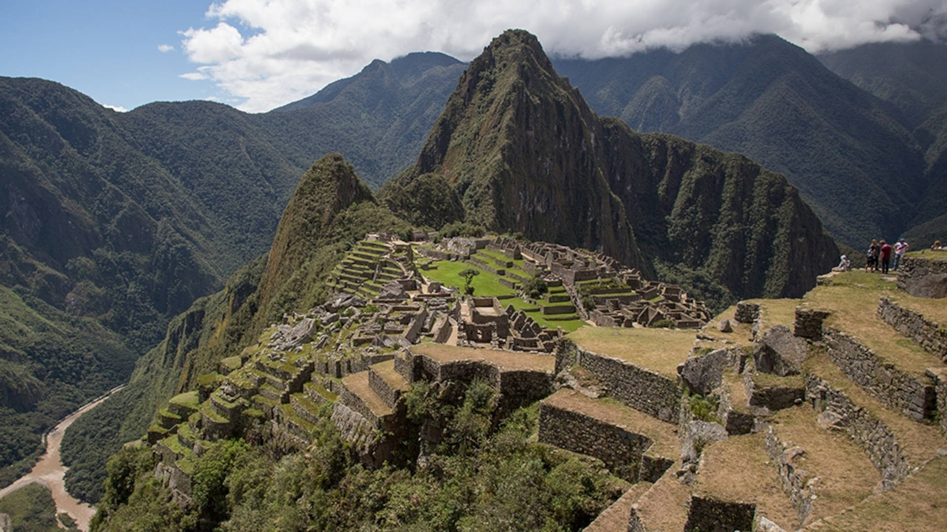
[[554, 64], [601, 115], [784, 174], [831, 234], [858, 249], [909, 227], [928, 183], [897, 110], [775, 35]]

